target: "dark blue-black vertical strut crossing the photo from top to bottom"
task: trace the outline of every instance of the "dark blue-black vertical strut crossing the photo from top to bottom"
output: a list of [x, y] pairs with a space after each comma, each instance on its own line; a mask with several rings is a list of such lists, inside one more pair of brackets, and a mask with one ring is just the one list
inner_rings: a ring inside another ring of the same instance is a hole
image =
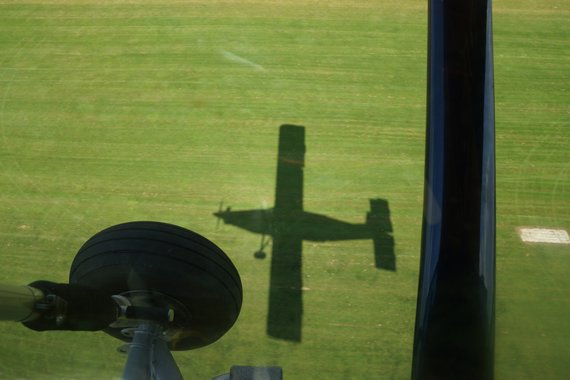
[[430, 0], [424, 215], [412, 379], [492, 379], [491, 0]]

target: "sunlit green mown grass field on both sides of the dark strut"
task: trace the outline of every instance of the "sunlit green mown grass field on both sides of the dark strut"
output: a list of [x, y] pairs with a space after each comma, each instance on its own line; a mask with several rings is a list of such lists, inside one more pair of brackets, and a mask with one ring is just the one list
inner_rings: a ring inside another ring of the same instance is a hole
[[[570, 4], [494, 3], [497, 379], [563, 379], [570, 248]], [[409, 378], [423, 192], [427, 2], [0, 0], [0, 282], [67, 281], [112, 224], [193, 229], [236, 264], [244, 304], [212, 346], [176, 353], [188, 379], [233, 364], [287, 379]], [[266, 335], [259, 235], [216, 226], [271, 207], [278, 129], [306, 127], [304, 206], [363, 223], [388, 200], [397, 271], [370, 240], [305, 242], [303, 339]], [[0, 378], [118, 378], [103, 333], [0, 325]]]

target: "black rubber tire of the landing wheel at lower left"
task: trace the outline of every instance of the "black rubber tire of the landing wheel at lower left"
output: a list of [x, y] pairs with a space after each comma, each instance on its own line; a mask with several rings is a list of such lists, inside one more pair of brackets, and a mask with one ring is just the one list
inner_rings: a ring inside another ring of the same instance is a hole
[[[95, 234], [75, 256], [69, 283], [109, 296], [150, 291], [176, 300], [185, 310], [175, 311], [172, 350], [218, 340], [237, 320], [242, 303], [239, 274], [220, 248], [195, 232], [160, 222], [124, 223]], [[105, 331], [128, 340], [120, 328]]]

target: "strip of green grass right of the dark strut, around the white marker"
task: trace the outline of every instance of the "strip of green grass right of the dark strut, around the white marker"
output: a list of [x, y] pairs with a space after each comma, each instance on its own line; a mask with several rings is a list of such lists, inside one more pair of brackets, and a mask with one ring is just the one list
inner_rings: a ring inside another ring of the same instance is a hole
[[570, 249], [525, 246], [514, 230], [570, 228], [569, 8], [522, 6], [506, 5], [495, 17], [496, 373], [562, 379], [570, 355]]

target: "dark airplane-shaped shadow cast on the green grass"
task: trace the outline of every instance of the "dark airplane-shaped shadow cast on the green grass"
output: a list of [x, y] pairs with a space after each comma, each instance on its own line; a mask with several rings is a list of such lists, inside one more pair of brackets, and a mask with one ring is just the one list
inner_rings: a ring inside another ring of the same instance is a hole
[[303, 315], [302, 245], [308, 241], [372, 239], [376, 268], [396, 270], [394, 238], [388, 201], [370, 199], [366, 222], [348, 223], [303, 209], [305, 128], [282, 125], [279, 132], [275, 207], [232, 211], [214, 215], [226, 224], [261, 234], [255, 257], [273, 240], [267, 334], [274, 338], [301, 341]]

